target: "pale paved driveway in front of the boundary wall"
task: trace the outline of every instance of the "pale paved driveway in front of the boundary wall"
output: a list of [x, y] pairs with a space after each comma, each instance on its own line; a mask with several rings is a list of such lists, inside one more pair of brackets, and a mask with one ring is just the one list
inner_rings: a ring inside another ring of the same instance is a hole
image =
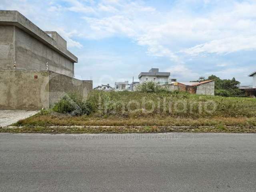
[[8, 126], [18, 120], [26, 119], [39, 111], [0, 110], [0, 127]]

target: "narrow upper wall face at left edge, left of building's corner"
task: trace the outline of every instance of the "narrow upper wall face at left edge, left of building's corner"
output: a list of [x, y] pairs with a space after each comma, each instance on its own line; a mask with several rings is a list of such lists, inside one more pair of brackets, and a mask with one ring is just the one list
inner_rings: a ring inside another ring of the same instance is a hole
[[12, 69], [15, 60], [14, 26], [0, 25], [0, 69]]

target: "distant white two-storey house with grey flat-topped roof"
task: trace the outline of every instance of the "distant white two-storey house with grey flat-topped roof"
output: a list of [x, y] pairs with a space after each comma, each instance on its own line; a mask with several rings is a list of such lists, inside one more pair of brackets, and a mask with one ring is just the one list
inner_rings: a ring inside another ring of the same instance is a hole
[[163, 85], [169, 83], [170, 73], [159, 72], [158, 68], [152, 68], [149, 70], [149, 72], [141, 72], [138, 78], [140, 83], [152, 81]]

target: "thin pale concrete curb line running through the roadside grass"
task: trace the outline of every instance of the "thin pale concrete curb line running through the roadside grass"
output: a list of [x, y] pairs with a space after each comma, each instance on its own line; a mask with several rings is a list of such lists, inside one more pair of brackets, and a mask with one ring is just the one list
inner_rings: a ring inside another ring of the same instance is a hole
[[[40, 126], [43, 127], [43, 126]], [[45, 126], [46, 128], [49, 129], [64, 129], [64, 128], [134, 128], [134, 129], [140, 129], [140, 128], [166, 128], [166, 129], [195, 129], [195, 128], [209, 128], [209, 129], [214, 129], [217, 128], [218, 126]], [[245, 126], [224, 126], [225, 128], [229, 129], [239, 129], [239, 128], [244, 128]], [[24, 126], [4, 126], [0, 127], [2, 129], [22, 129]], [[251, 129], [256, 129], [256, 126], [250, 126]]]

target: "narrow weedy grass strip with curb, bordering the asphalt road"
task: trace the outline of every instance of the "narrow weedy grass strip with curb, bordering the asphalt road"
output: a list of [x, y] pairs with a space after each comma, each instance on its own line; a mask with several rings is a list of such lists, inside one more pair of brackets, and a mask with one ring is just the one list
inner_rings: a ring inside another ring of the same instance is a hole
[[162, 133], [162, 132], [214, 132], [256, 133], [255, 126], [23, 126], [1, 128], [2, 133]]

